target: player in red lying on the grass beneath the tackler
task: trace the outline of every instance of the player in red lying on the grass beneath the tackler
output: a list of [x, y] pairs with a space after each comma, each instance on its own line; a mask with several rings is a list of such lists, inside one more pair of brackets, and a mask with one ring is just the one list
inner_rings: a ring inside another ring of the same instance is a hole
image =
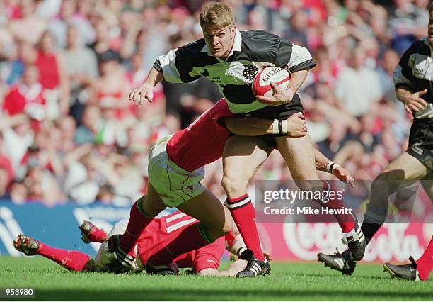
[[[246, 267], [245, 260], [237, 260], [231, 263], [228, 270], [218, 270], [220, 259], [225, 249], [234, 255], [248, 256], [248, 250], [243, 247], [241, 236], [235, 235], [232, 232], [198, 250], [176, 257], [173, 262], [171, 262], [171, 259], [168, 259], [168, 262], [158, 266], [149, 262], [149, 257], [154, 252], [168, 245], [189, 225], [197, 225], [197, 223], [195, 218], [187, 216], [180, 211], [162, 218], [155, 218], [139, 236], [137, 246], [134, 249], [137, 255], [134, 260], [134, 266], [130, 269], [122, 267], [121, 271], [118, 270], [118, 266], [110, 265], [112, 253], [106, 240], [112, 235], [123, 233], [126, 228], [127, 219], [116, 223], [109, 234], [100, 230], [89, 221], [84, 221], [80, 225], [79, 228], [83, 242], [102, 243], [98, 254], [94, 258], [77, 250], [63, 250], [50, 247], [39, 240], [25, 235], [18, 235], [13, 241], [13, 246], [25, 255], [41, 255], [62, 265], [66, 269], [76, 272], [120, 273], [140, 272], [145, 269], [149, 274], [178, 274], [178, 269], [189, 268], [192, 269], [192, 272], [202, 276], [235, 276]], [[268, 257], [270, 256], [268, 255]]]

